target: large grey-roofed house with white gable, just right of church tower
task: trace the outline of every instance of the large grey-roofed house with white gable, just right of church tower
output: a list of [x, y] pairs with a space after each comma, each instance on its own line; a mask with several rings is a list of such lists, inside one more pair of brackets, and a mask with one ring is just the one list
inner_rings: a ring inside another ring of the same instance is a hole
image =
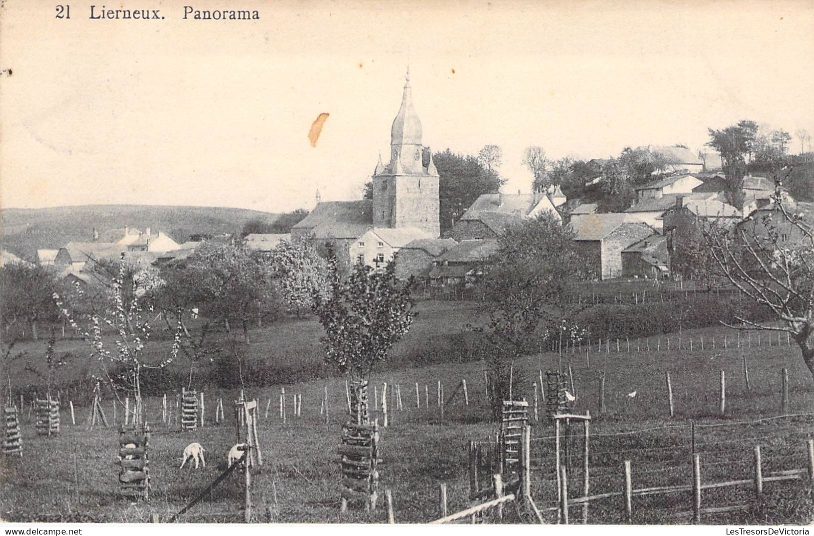
[[[562, 194], [562, 192], [560, 192]], [[564, 196], [562, 196], [564, 198]], [[558, 198], [559, 200], [559, 198]], [[563, 201], [564, 203], [564, 201]], [[482, 194], [460, 220], [444, 235], [461, 242], [472, 239], [494, 239], [512, 223], [549, 213], [562, 222], [554, 203], [542, 192], [533, 194]]]

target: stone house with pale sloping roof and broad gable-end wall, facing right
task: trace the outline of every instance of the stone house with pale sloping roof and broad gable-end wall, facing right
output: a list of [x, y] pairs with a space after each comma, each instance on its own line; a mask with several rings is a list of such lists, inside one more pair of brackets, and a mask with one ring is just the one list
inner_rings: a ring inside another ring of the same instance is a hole
[[571, 223], [577, 251], [598, 279], [621, 277], [622, 251], [654, 234], [646, 223], [628, 222], [627, 218], [624, 213], [586, 214]]

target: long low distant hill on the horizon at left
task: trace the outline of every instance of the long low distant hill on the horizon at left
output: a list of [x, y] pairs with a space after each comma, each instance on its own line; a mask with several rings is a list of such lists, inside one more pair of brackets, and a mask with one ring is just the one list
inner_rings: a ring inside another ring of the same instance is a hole
[[90, 204], [47, 209], [0, 210], [0, 249], [33, 260], [37, 249], [56, 249], [71, 241], [89, 242], [94, 228], [101, 239], [125, 226], [164, 231], [177, 242], [190, 235], [239, 233], [252, 218], [274, 222], [278, 214], [224, 207], [173, 207], [151, 204]]

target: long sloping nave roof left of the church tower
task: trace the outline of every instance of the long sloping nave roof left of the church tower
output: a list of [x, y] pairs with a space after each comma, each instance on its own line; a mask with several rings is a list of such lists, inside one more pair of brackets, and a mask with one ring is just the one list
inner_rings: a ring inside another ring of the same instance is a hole
[[293, 228], [317, 238], [356, 239], [373, 227], [373, 200], [323, 201]]

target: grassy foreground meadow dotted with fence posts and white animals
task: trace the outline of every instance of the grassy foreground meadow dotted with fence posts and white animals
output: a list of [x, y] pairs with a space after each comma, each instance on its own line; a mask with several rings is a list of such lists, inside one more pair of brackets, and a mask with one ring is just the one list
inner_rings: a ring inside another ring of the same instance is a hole
[[[444, 312], [427, 322], [422, 338], [431, 337], [435, 325], [444, 319]], [[431, 315], [427, 314], [424, 319]], [[449, 315], [448, 315], [449, 316]], [[455, 319], [450, 319], [450, 322]], [[459, 322], [462, 320], [458, 320]], [[413, 335], [416, 335], [418, 323]], [[729, 349], [720, 349], [726, 334]], [[699, 349], [704, 336], [705, 349]], [[717, 345], [710, 347], [712, 336]], [[786, 367], [790, 378], [791, 414], [812, 412], [814, 382], [799, 358], [799, 350], [786, 346], [786, 340], [772, 342], [765, 339], [756, 347], [732, 348], [732, 331], [709, 328], [684, 332], [682, 349], [676, 349], [677, 335], [671, 336], [671, 351], [664, 351], [665, 338], [660, 348], [656, 339], [650, 339], [650, 352], [636, 351], [646, 348], [632, 341], [628, 353], [625, 341], [621, 352], [594, 351], [590, 367], [586, 356], [566, 354], [563, 367], [574, 372], [577, 400], [575, 412], [591, 411], [592, 424], [592, 490], [619, 490], [624, 485], [621, 467], [630, 459], [633, 467], [634, 487], [659, 482], [689, 483], [689, 420], [697, 425], [696, 446], [702, 452], [702, 477], [705, 481], [742, 478], [748, 475], [751, 450], [755, 444], [765, 449], [764, 474], [789, 468], [803, 468], [806, 464], [803, 442], [812, 437], [812, 416], [766, 420], [751, 424], [741, 421], [766, 419], [781, 413], [781, 369]], [[694, 340], [694, 351], [689, 352], [689, 338]], [[405, 340], [405, 343], [407, 340]], [[258, 343], [260, 344], [260, 343]], [[293, 344], [293, 343], [292, 343]], [[427, 345], [429, 349], [430, 346]], [[615, 344], [611, 343], [615, 350]], [[316, 349], [314, 349], [316, 351]], [[746, 355], [750, 373], [750, 388], [746, 390], [742, 375], [742, 355]], [[518, 376], [527, 381], [518, 382], [528, 400], [532, 400], [531, 381], [540, 370], [557, 367], [556, 354], [528, 356], [516, 363]], [[720, 371], [727, 379], [727, 406], [722, 417], [720, 411]], [[676, 415], [669, 417], [664, 372], [670, 371], [675, 398]], [[599, 415], [599, 384], [605, 376], [606, 413]], [[470, 405], [464, 406], [462, 396], [446, 407], [444, 420], [435, 406], [437, 382], [444, 384], [449, 396], [460, 380], [466, 379]], [[381, 389], [387, 381], [400, 386], [404, 411], [394, 411], [391, 402], [392, 426], [382, 433], [383, 464], [380, 468], [381, 486], [392, 490], [396, 521], [422, 522], [439, 516], [438, 486], [449, 486], [449, 508], [456, 511], [469, 505], [466, 445], [470, 439], [486, 440], [497, 433], [497, 424], [488, 421], [488, 404], [484, 393], [483, 365], [480, 362], [446, 362], [441, 365], [393, 367], [374, 375], [374, 384]], [[416, 408], [415, 384], [419, 384], [420, 408]], [[425, 407], [425, 385], [429, 393], [429, 408]], [[330, 398], [330, 424], [324, 424], [319, 414], [322, 390], [327, 386]], [[393, 388], [390, 392], [393, 393]], [[291, 418], [282, 424], [278, 415], [279, 388], [247, 389], [247, 396], [260, 399], [260, 441], [264, 449], [265, 465], [256, 476], [253, 491], [256, 521], [278, 522], [384, 522], [384, 508], [376, 512], [352, 511], [339, 518], [339, 464], [335, 453], [339, 444], [339, 421], [344, 419], [347, 406], [344, 383], [338, 378], [315, 380], [287, 385], [288, 405], [291, 393], [301, 393], [302, 417]], [[635, 398], [628, 393], [637, 392]], [[153, 499], [149, 503], [130, 504], [116, 494], [116, 432], [112, 428], [94, 428], [87, 432], [83, 422], [87, 408], [79, 408], [77, 426], [72, 426], [63, 409], [63, 433], [58, 437], [34, 437], [33, 423], [24, 414], [23, 459], [2, 459], [2, 499], [0, 512], [9, 521], [32, 519], [71, 519], [74, 512], [83, 512], [95, 521], [146, 521], [151, 513], [167, 519], [180, 510], [195, 494], [203, 490], [219, 474], [218, 464], [225, 463], [225, 452], [234, 444], [234, 428], [229, 401], [235, 393], [220, 393], [226, 409], [225, 424], [213, 423], [215, 400], [219, 393], [206, 393], [207, 424], [194, 433], [170, 431], [160, 425], [160, 400], [147, 401], [148, 420], [158, 421], [152, 444], [151, 477]], [[271, 400], [268, 419], [265, 407]], [[111, 402], [104, 402], [107, 415]], [[555, 499], [552, 426], [545, 420], [532, 420], [532, 493], [538, 505], [548, 505]], [[707, 425], [707, 426], [703, 426]], [[712, 426], [715, 425], [715, 426]], [[670, 427], [670, 428], [666, 428]], [[654, 428], [654, 429], [650, 429]], [[641, 433], [630, 433], [646, 430]], [[622, 433], [622, 435], [619, 435]], [[198, 441], [208, 450], [205, 470], [179, 471], [181, 452], [189, 442]], [[576, 440], [572, 440], [576, 441]], [[74, 477], [76, 455], [79, 482]], [[575, 473], [578, 475], [578, 473]], [[746, 476], [748, 477], [748, 476]], [[579, 481], [579, 477], [575, 476]], [[796, 486], [796, 487], [795, 487]], [[708, 523], [729, 522], [801, 522], [807, 511], [798, 503], [783, 503], [790, 490], [803, 493], [803, 483], [766, 486], [768, 503], [749, 512], [711, 516]], [[748, 489], [747, 489], [748, 491]], [[741, 493], [738, 491], [737, 493]], [[705, 492], [709, 505], [726, 504], [739, 499], [739, 495]], [[669, 500], [667, 500], [669, 499]], [[634, 521], [687, 522], [689, 494], [656, 499], [637, 499]], [[742, 499], [742, 498], [740, 498]], [[381, 499], [383, 504], [383, 499]], [[772, 502], [773, 501], [773, 502]], [[184, 521], [240, 521], [242, 512], [241, 479], [233, 475], [229, 481], [213, 490], [211, 496], [194, 507]], [[802, 512], [802, 513], [801, 513]], [[576, 515], [576, 512], [574, 513]], [[619, 522], [624, 515], [620, 501], [609, 500], [591, 507], [591, 522]]]

